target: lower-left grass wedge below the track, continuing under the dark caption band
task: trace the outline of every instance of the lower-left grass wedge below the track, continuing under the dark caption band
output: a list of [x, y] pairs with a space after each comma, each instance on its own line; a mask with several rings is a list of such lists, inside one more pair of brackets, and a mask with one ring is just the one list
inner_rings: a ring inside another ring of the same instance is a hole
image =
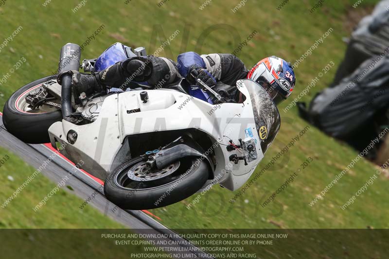
[[[3, 202], [35, 169], [1, 147], [0, 160], [4, 162], [0, 167], [0, 201], [3, 206]], [[0, 208], [1, 255], [4, 258], [31, 258], [32, 251], [33, 258], [106, 258], [107, 254], [120, 258], [143, 251], [141, 245], [117, 249], [114, 241], [102, 239], [102, 233], [123, 233], [124, 226], [90, 206], [80, 209], [83, 200], [65, 190], [58, 190], [35, 212], [33, 207], [55, 187], [56, 184], [38, 174], [14, 200]], [[109, 230], [101, 230], [105, 228]], [[125, 230], [124, 233], [131, 231]]]

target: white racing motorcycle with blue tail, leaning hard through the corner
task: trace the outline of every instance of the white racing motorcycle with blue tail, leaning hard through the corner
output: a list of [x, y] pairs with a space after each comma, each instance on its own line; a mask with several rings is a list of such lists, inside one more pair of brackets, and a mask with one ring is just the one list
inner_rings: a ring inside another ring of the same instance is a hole
[[204, 98], [190, 95], [195, 86], [182, 82], [74, 96], [71, 73], [80, 67], [100, 71], [141, 55], [144, 48], [116, 43], [80, 66], [80, 47], [66, 44], [58, 80], [48, 76], [17, 90], [3, 110], [5, 127], [27, 143], [50, 142], [105, 180], [107, 199], [125, 209], [164, 207], [213, 184], [243, 186], [280, 128], [277, 106], [256, 82], [237, 82], [243, 103], [225, 102], [202, 82], [208, 88], [197, 90]]

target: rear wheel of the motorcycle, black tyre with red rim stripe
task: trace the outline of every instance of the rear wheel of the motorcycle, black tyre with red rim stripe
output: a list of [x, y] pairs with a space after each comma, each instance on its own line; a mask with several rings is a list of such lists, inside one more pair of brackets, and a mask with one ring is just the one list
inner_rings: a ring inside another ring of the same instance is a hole
[[[62, 120], [62, 113], [55, 107], [42, 105], [39, 109], [27, 108], [25, 96], [42, 83], [56, 76], [47, 76], [31, 82], [11, 95], [4, 105], [3, 123], [5, 128], [22, 141], [31, 144], [50, 142], [48, 129], [56, 121]], [[57, 100], [60, 103], [60, 100]]]

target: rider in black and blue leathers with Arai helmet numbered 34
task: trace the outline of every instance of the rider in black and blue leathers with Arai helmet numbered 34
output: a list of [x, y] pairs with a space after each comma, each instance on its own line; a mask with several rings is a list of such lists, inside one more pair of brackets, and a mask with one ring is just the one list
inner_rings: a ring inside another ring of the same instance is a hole
[[128, 58], [100, 72], [75, 73], [72, 84], [77, 94], [90, 94], [110, 87], [124, 90], [134, 83], [159, 88], [175, 84], [181, 78], [192, 86], [200, 86], [197, 79], [210, 87], [216, 86], [214, 89], [221, 89], [231, 102], [242, 101], [236, 82], [248, 78], [264, 87], [276, 104], [291, 94], [296, 82], [290, 63], [276, 56], [262, 59], [248, 70], [232, 54], [185, 52], [178, 55], [177, 63], [164, 57], [141, 56]]

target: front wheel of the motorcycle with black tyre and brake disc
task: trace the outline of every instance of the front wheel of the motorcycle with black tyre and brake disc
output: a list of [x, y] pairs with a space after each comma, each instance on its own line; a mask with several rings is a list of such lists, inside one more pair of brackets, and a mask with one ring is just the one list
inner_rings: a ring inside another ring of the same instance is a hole
[[131, 210], [164, 207], [191, 196], [209, 178], [207, 162], [195, 157], [182, 158], [159, 172], [142, 171], [144, 164], [134, 158], [110, 173], [104, 184], [107, 199]]

